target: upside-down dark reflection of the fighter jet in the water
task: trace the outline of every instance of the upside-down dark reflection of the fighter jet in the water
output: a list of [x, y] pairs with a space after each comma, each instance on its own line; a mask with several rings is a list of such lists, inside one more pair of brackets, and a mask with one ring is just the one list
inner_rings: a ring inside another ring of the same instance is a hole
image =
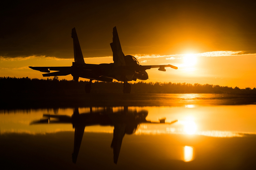
[[[113, 112], [113, 108], [107, 108], [102, 111], [93, 112], [92, 109], [89, 113], [79, 114], [78, 108], [74, 109], [74, 114], [70, 117], [67, 115], [43, 115], [46, 117], [39, 121], [34, 121], [31, 124], [52, 124], [52, 123], [72, 123], [75, 128], [74, 139], [74, 152], [72, 154], [73, 163], [76, 163], [82, 138], [84, 135], [84, 129], [86, 126], [103, 125], [114, 126], [113, 140], [111, 148], [114, 152], [114, 163], [117, 163], [122, 141], [125, 134], [134, 133], [141, 123], [151, 124], [172, 124], [178, 120], [174, 120], [170, 123], [165, 122], [165, 118], [160, 119], [159, 122], [151, 122], [146, 120], [148, 116], [148, 110], [142, 110], [137, 112], [136, 110], [128, 110], [127, 107], [124, 110]], [[51, 119], [53, 118], [53, 120]]]

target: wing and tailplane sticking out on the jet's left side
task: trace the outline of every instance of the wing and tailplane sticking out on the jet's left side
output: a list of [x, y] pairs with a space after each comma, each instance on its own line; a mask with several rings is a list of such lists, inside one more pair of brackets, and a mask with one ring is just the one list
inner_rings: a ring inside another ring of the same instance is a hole
[[[61, 76], [61, 75], [71, 74], [70, 73], [71, 67], [31, 67], [30, 66], [29, 68], [31, 68], [33, 70], [40, 71], [40, 72], [47, 73], [47, 74], [43, 74], [44, 77]], [[50, 73], [50, 70], [56, 71], [56, 72]]]

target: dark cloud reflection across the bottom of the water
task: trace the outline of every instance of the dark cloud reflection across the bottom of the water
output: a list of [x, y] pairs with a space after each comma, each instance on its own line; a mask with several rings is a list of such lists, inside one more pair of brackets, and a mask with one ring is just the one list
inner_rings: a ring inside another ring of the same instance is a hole
[[[113, 163], [111, 133], [84, 133], [72, 163], [74, 132], [0, 135], [1, 169], [253, 169], [256, 136], [214, 138], [186, 135], [128, 135]], [[194, 160], [186, 162], [186, 146]], [[183, 148], [183, 149], [182, 149]]]

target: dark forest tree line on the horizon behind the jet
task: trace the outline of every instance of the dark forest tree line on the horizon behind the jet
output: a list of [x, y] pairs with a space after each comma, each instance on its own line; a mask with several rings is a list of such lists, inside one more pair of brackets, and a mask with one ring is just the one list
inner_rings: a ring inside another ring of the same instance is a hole
[[[57, 76], [52, 79], [30, 79], [28, 77], [0, 77], [1, 94], [81, 94], [88, 81], [59, 80]], [[212, 84], [189, 84], [172, 82], [135, 82], [131, 84], [131, 93], [210, 93], [210, 94], [256, 94], [256, 88], [240, 89]], [[91, 93], [122, 93], [122, 82], [92, 83]]]

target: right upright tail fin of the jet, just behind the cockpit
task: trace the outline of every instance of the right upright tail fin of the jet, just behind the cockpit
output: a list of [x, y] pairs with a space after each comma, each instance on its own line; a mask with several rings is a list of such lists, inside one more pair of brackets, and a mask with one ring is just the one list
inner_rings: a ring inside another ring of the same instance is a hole
[[110, 43], [113, 52], [113, 61], [116, 66], [125, 66], [124, 53], [121, 48], [116, 27], [113, 28], [113, 42]]

